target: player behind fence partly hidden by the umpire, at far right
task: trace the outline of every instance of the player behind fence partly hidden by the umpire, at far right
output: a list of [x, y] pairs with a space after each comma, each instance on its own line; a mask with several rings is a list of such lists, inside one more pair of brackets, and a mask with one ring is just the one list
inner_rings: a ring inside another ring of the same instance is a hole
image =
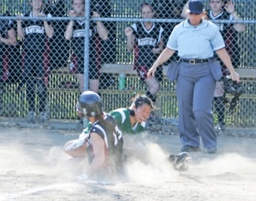
[[[188, 3], [184, 6], [182, 10], [182, 14], [184, 18], [187, 17]], [[209, 20], [240, 20], [238, 14], [234, 10], [234, 2], [224, 0], [210, 0], [209, 1], [210, 10], [206, 14], [205, 19]], [[234, 68], [240, 65], [240, 49], [238, 46], [238, 33], [244, 32], [246, 30], [246, 25], [241, 23], [223, 23], [223, 22], [215, 22], [218, 26], [218, 30], [222, 33], [222, 37], [225, 41], [226, 51], [229, 53], [231, 57], [231, 62]], [[214, 58], [219, 59], [218, 55], [214, 54]], [[229, 71], [226, 68], [226, 65], [222, 65], [222, 74], [223, 77], [229, 75]], [[224, 96], [224, 85], [223, 85], [223, 77], [221, 81], [216, 82], [216, 87], [214, 90], [214, 107], [216, 109], [218, 115], [218, 125], [217, 131], [225, 130], [225, 96]]]

